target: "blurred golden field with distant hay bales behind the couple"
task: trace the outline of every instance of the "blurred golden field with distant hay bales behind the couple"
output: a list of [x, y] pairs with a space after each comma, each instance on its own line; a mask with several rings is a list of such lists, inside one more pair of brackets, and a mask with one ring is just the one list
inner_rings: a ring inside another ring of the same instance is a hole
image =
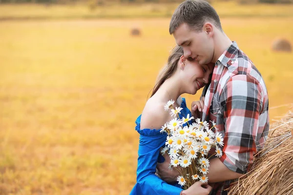
[[[0, 0], [0, 195], [129, 194], [180, 2]], [[265, 79], [272, 124], [293, 104], [293, 0], [210, 3]]]

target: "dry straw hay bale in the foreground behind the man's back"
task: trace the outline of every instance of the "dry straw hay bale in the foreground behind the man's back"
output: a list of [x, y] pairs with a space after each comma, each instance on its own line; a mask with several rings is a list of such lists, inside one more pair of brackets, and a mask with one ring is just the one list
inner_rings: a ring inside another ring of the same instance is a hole
[[293, 109], [270, 130], [258, 155], [229, 195], [293, 195]]

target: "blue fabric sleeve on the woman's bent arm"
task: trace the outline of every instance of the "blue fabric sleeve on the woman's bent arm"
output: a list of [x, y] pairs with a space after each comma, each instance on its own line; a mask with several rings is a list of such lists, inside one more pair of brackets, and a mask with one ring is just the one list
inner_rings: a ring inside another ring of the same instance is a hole
[[137, 183], [130, 195], [180, 195], [182, 189], [155, 175], [160, 148], [166, 136], [140, 136], [137, 163]]

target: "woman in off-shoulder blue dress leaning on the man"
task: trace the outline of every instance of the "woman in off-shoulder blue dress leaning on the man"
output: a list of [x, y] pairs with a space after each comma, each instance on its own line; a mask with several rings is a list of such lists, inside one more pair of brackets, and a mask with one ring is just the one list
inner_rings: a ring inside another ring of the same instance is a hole
[[[191, 115], [182, 94], [196, 94], [209, 81], [212, 67], [199, 65], [194, 59], [183, 56], [182, 47], [176, 46], [168, 58], [146, 102], [141, 116], [136, 120], [136, 131], [140, 134], [138, 150], [137, 183], [130, 195], [208, 195], [211, 187], [202, 187], [200, 182], [182, 190], [179, 184], [167, 184], [155, 175], [157, 162], [162, 162], [160, 148], [165, 146], [167, 134], [161, 134], [161, 127], [172, 118], [164, 106], [170, 99], [176, 99], [174, 107], [181, 107], [179, 117]], [[193, 114], [193, 113], [192, 113]]]

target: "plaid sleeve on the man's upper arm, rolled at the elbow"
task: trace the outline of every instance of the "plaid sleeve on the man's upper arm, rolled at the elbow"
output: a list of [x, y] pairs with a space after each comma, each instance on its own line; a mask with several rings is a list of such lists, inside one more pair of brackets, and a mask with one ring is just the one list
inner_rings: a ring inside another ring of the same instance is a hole
[[231, 77], [220, 95], [225, 123], [220, 160], [234, 172], [246, 174], [257, 152], [263, 98], [259, 83], [248, 75]]

